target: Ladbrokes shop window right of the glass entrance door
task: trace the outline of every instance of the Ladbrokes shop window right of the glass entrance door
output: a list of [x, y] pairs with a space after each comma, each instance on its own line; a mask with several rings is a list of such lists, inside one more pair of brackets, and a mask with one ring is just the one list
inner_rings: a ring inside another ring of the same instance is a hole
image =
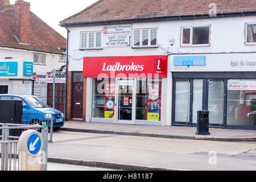
[[137, 81], [136, 119], [161, 121], [162, 81], [140, 78]]

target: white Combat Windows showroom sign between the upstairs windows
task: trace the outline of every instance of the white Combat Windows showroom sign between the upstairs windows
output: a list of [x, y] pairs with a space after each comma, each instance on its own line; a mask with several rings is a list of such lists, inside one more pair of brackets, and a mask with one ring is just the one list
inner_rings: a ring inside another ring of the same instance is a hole
[[131, 24], [105, 26], [103, 28], [102, 47], [131, 46]]

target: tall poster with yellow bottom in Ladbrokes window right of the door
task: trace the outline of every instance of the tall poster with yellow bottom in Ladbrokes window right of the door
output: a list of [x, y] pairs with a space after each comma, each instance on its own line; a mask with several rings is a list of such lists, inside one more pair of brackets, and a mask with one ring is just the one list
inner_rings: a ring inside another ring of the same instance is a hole
[[160, 121], [161, 99], [159, 82], [148, 82], [147, 95], [147, 120]]

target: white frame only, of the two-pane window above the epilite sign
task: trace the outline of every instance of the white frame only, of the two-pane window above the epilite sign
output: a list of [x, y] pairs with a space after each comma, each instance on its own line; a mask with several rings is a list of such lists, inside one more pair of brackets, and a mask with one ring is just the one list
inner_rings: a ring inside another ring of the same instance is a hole
[[[209, 43], [208, 44], [193, 44], [193, 28], [196, 27], [209, 27]], [[189, 44], [183, 44], [183, 29], [190, 28], [190, 40]], [[205, 26], [190, 26], [190, 27], [181, 27], [180, 28], [180, 47], [201, 47], [201, 46], [210, 46], [210, 25]]]

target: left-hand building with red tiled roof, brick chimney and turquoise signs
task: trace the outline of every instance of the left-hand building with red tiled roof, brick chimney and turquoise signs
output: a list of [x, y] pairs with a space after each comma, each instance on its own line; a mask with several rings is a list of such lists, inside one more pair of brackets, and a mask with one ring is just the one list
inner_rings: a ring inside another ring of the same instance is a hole
[[[52, 105], [52, 83], [47, 77], [52, 69], [65, 67], [66, 44], [63, 36], [30, 11], [30, 3], [18, 0], [10, 5], [10, 0], [0, 0], [0, 66], [10, 68], [0, 73], [0, 94], [34, 94]], [[56, 87], [56, 106], [64, 112], [65, 82]]]

